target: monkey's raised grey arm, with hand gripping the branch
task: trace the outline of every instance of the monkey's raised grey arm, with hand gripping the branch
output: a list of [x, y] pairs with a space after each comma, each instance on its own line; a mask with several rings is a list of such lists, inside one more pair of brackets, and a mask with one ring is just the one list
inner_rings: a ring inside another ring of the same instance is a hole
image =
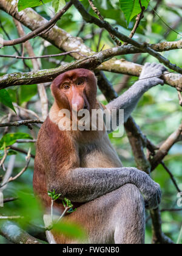
[[157, 63], [146, 63], [140, 75], [140, 80], [123, 93], [119, 98], [106, 105], [107, 109], [124, 109], [124, 122], [127, 121], [130, 114], [135, 109], [141, 96], [155, 85], [164, 84], [160, 79], [161, 75], [167, 69]]

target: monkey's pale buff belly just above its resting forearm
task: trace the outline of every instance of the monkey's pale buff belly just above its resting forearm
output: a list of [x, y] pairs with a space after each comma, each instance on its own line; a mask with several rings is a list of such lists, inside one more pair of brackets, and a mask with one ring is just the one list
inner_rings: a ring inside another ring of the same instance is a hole
[[120, 168], [122, 163], [108, 137], [79, 147], [80, 167]]

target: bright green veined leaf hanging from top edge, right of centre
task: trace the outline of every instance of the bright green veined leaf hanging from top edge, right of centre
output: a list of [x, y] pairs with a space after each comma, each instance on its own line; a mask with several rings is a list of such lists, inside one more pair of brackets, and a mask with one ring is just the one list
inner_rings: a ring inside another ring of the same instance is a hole
[[[149, 0], [141, 0], [141, 5], [146, 7], [149, 5]], [[139, 0], [120, 0], [121, 10], [124, 12], [127, 24], [130, 23], [133, 17], [141, 12]]]

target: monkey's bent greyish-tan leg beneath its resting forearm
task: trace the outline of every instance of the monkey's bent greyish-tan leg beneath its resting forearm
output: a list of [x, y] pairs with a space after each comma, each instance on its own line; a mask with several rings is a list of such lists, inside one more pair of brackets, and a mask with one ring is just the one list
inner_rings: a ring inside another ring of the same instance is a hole
[[84, 227], [87, 241], [81, 242], [62, 235], [54, 235], [56, 243], [59, 244], [144, 243], [144, 199], [138, 188], [132, 184], [126, 184], [118, 190], [82, 205], [64, 220]]

